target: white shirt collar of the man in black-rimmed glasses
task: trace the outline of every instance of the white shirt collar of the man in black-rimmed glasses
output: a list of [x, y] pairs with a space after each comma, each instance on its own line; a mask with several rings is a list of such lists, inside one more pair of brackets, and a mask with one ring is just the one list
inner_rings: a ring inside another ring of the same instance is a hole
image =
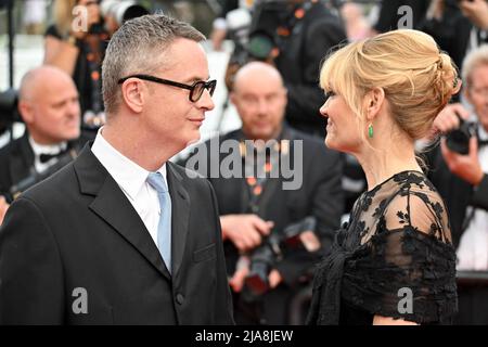
[[[97, 133], [91, 151], [129, 198], [134, 200], [145, 185], [150, 171], [118, 152], [103, 138], [102, 130], [103, 127]], [[157, 172], [166, 180], [166, 163]]]

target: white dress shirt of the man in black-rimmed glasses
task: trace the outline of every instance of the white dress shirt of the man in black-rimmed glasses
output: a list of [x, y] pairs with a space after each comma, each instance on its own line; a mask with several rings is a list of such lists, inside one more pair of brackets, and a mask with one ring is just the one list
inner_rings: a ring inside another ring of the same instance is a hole
[[[91, 146], [91, 152], [102, 163], [112, 178], [144, 222], [145, 228], [157, 245], [157, 224], [159, 222], [159, 198], [157, 192], [147, 182], [150, 171], [133, 163], [114, 149], [102, 136], [101, 128]], [[166, 181], [166, 164], [158, 170]]]

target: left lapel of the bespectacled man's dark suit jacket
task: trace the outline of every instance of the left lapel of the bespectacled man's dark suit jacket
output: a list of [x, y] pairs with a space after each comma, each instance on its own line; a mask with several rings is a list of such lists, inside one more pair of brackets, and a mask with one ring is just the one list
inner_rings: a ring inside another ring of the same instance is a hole
[[74, 162], [80, 192], [94, 196], [89, 208], [114, 228], [164, 277], [170, 279], [143, 221], [112, 176], [93, 155], [90, 146], [91, 143], [86, 145]]

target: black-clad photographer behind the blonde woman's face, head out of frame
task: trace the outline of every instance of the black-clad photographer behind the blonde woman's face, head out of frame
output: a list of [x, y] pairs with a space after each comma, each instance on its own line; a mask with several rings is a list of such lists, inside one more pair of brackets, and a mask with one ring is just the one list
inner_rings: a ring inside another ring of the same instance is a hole
[[269, 34], [274, 37], [278, 48], [274, 64], [288, 91], [285, 118], [298, 130], [323, 137], [325, 120], [318, 110], [324, 102], [324, 95], [317, 76], [323, 57], [331, 49], [347, 43], [345, 28], [324, 1], [281, 2], [285, 3], [287, 11], [284, 14], [274, 12], [278, 20], [273, 18], [273, 11], [262, 11], [255, 30], [262, 27], [268, 31], [267, 22], [277, 21], [279, 24], [274, 33]]

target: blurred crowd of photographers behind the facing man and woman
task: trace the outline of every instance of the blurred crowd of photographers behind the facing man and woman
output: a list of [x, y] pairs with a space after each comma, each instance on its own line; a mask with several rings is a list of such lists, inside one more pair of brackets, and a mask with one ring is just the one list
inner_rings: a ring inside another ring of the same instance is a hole
[[[11, 110], [26, 131], [0, 149], [0, 223], [18, 194], [73, 159], [103, 126], [101, 66], [113, 33], [136, 16], [172, 13], [207, 34], [214, 50], [233, 43], [226, 86], [217, 88], [227, 88], [242, 128], [218, 141], [241, 144], [235, 160], [243, 170], [247, 152], [269, 150], [248, 149], [246, 141], [273, 140], [280, 159], [292, 160], [294, 141], [301, 141], [303, 184], [295, 191], [270, 175], [201, 174], [216, 190], [236, 322], [303, 324], [313, 265], [365, 190], [356, 159], [323, 144], [326, 119], [319, 108], [328, 95], [319, 88], [319, 68], [341, 44], [413, 28], [433, 36], [462, 76], [462, 91], [418, 147], [450, 213], [459, 275], [488, 271], [487, 1], [26, 0], [16, 9], [23, 14], [17, 31], [44, 36], [44, 57], [23, 77]], [[86, 11], [85, 22], [74, 9]], [[249, 62], [256, 63], [240, 69]], [[220, 167], [228, 158], [211, 151], [209, 140], [181, 164], [205, 152], [216, 160], [208, 167]], [[265, 157], [270, 174], [279, 163]], [[458, 323], [488, 323], [487, 287], [460, 285]]]

